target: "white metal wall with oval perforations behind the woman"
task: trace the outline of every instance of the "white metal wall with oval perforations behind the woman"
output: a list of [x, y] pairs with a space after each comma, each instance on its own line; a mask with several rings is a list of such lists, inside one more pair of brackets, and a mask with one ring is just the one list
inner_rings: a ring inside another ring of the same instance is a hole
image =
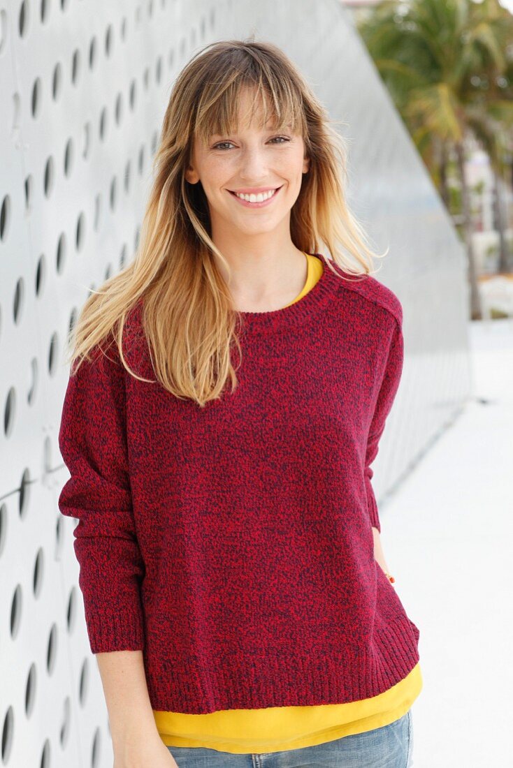
[[468, 393], [465, 260], [336, 0], [0, 2], [0, 727], [9, 768], [112, 768], [101, 680], [58, 512], [65, 334], [133, 256], [178, 71], [199, 47], [281, 45], [347, 123], [350, 203], [391, 254], [407, 359], [379, 498]]

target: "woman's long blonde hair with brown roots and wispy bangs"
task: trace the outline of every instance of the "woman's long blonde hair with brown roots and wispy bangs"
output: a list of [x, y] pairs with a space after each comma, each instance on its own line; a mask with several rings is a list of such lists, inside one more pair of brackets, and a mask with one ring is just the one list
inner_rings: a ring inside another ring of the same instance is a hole
[[[368, 248], [361, 226], [348, 210], [345, 140], [285, 53], [254, 40], [206, 45], [178, 74], [172, 88], [135, 258], [106, 280], [102, 290], [88, 296], [68, 339], [73, 349], [67, 362], [72, 368], [110, 339], [125, 369], [148, 381], [130, 369], [122, 347], [128, 313], [142, 302], [142, 329], [153, 372], [168, 392], [205, 406], [221, 396], [228, 379], [232, 391], [237, 386], [231, 352], [236, 346], [242, 359], [238, 339], [242, 317], [233, 308], [228, 283], [213, 254], [228, 275], [231, 270], [211, 240], [202, 185], [188, 184], [185, 169], [195, 139], [208, 141], [212, 134], [237, 129], [238, 94], [248, 86], [261, 97], [264, 121], [270, 108], [277, 131], [291, 124], [303, 137], [305, 156], [310, 158], [291, 209], [295, 247], [305, 253], [327, 247], [333, 262], [351, 275], [371, 273], [372, 258], [385, 256], [386, 252]], [[331, 264], [329, 269], [340, 276]]]

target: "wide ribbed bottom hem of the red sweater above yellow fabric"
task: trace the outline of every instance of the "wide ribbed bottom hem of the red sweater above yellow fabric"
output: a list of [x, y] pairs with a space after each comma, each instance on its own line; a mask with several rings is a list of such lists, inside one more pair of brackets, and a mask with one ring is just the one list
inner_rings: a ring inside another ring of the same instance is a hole
[[[375, 632], [368, 647], [338, 654], [280, 657], [271, 650], [230, 664], [208, 666], [152, 659], [147, 669], [153, 710], [202, 714], [217, 710], [346, 703], [378, 696], [403, 680], [419, 661], [418, 628], [400, 614]], [[170, 691], [170, 693], [166, 693]], [[195, 707], [193, 700], [202, 702]]]

